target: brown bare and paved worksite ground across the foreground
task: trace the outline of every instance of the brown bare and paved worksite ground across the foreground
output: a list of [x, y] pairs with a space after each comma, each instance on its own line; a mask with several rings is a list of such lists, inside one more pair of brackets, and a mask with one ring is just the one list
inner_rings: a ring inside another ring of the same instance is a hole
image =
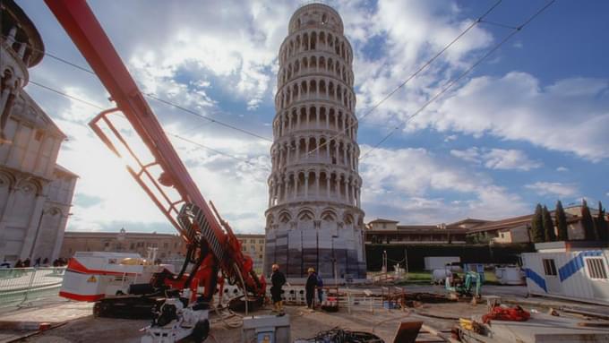
[[[380, 288], [370, 288], [374, 293], [379, 293]], [[362, 289], [353, 289], [352, 292], [361, 292]], [[442, 287], [428, 285], [408, 286], [409, 292], [433, 292], [443, 293]], [[538, 313], [545, 313], [549, 307], [559, 308], [569, 305], [579, 307], [588, 311], [607, 312], [605, 306], [593, 304], [570, 303], [566, 301], [555, 301], [541, 297], [524, 298], [526, 295], [525, 287], [502, 287], [485, 286], [483, 291], [486, 295], [499, 295], [503, 299], [518, 300], [527, 310], [535, 309]], [[65, 300], [57, 300], [54, 304], [44, 304], [32, 306], [30, 308], [13, 309], [12, 311], [0, 312], [0, 322], [19, 322], [19, 321], [44, 321], [44, 322], [65, 322], [66, 324], [53, 330], [47, 330], [39, 335], [25, 339], [25, 342], [43, 343], [76, 343], [76, 342], [139, 342], [142, 337], [142, 328], [149, 324], [148, 321], [128, 321], [107, 318], [93, 318], [91, 315], [91, 304], [73, 303]], [[352, 309], [352, 313], [347, 313], [346, 308], [342, 308], [339, 313], [307, 312], [302, 306], [287, 306], [287, 313], [291, 319], [292, 339], [310, 338], [321, 330], [330, 330], [340, 327], [347, 330], [365, 330], [391, 342], [399, 322], [423, 321], [426, 324], [440, 330], [447, 330], [456, 321], [454, 318], [470, 317], [472, 315], [482, 315], [486, 313], [486, 305], [478, 304], [473, 306], [468, 303], [448, 303], [448, 304], [423, 304], [422, 307], [409, 309], [406, 312], [401, 310], [377, 309], [371, 313], [368, 306], [362, 305]], [[270, 314], [269, 310], [260, 310], [256, 315]], [[210, 342], [240, 342], [241, 329], [229, 329], [218, 317], [212, 315], [211, 332], [213, 338]], [[234, 318], [233, 322], [238, 322]], [[0, 342], [4, 339], [14, 338], [15, 334], [22, 334], [24, 331], [0, 330]], [[215, 341], [214, 341], [215, 339]]]

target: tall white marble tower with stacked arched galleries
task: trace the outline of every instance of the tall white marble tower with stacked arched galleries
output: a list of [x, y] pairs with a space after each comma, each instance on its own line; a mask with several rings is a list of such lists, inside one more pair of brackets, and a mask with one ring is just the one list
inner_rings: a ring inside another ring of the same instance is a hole
[[264, 273], [365, 279], [353, 51], [339, 13], [306, 4], [279, 48]]

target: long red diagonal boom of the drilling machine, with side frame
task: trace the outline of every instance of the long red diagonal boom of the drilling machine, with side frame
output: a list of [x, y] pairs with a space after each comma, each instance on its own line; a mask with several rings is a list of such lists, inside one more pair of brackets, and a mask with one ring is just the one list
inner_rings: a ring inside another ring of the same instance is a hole
[[[237, 279], [236, 273], [241, 274], [244, 287], [260, 292], [251, 258], [241, 253], [232, 230], [220, 226], [89, 5], [84, 0], [45, 3], [116, 102], [116, 108], [100, 113], [90, 126], [116, 155], [129, 162], [129, 173], [189, 244], [195, 236], [204, 239], [229, 277]], [[135, 146], [130, 143], [133, 137], [117, 126], [117, 121], [124, 120], [118, 112], [139, 136], [141, 141]], [[148, 153], [136, 149], [138, 144]]]

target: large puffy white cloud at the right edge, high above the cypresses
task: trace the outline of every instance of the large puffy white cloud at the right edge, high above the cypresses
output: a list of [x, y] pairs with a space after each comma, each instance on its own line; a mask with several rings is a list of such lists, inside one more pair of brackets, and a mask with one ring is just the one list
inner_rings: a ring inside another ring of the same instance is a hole
[[408, 123], [474, 135], [528, 141], [585, 159], [609, 157], [609, 87], [604, 80], [574, 78], [542, 87], [528, 73], [468, 81], [433, 110]]

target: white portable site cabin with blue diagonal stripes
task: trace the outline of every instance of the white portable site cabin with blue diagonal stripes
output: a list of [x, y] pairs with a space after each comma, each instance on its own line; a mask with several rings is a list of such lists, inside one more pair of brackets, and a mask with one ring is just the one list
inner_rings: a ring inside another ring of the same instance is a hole
[[609, 249], [601, 242], [535, 244], [522, 253], [528, 293], [609, 305]]

